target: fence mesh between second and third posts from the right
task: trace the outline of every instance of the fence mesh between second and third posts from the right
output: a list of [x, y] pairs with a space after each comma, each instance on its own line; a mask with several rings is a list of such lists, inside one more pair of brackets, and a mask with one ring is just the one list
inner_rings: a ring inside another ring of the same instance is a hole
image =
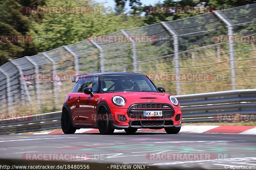
[[[156, 86], [175, 91], [175, 81], [166, 75], [174, 73], [173, 38], [161, 23], [125, 30], [136, 42], [138, 71], [148, 75]], [[173, 86], [174, 85], [174, 86]]]

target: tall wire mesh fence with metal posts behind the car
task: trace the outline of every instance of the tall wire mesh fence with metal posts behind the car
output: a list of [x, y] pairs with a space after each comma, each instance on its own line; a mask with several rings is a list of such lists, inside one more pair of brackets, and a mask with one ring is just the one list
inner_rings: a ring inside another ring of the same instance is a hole
[[0, 67], [1, 113], [60, 110], [74, 74], [138, 72], [167, 93], [256, 87], [256, 4], [120, 30]]

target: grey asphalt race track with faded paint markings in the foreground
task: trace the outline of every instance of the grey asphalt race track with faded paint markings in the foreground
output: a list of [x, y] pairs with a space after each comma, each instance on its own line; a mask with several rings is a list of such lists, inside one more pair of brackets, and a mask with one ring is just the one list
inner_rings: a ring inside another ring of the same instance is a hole
[[[81, 133], [0, 136], [0, 158], [25, 159], [24, 155], [40, 153], [83, 153], [87, 155], [86, 160], [82, 160], [84, 162], [207, 169], [224, 169], [228, 166], [230, 169], [230, 166], [256, 166], [256, 136], [207, 133], [169, 135], [164, 132], [136, 132], [135, 135], [119, 132], [114, 135]], [[161, 156], [164, 153], [181, 153], [182, 160], [173, 157], [168, 160], [167, 157], [162, 157], [164, 160], [150, 157], [153, 153]], [[198, 160], [196, 157], [196, 160], [191, 160], [184, 157], [189, 153], [210, 154], [211, 160]]]

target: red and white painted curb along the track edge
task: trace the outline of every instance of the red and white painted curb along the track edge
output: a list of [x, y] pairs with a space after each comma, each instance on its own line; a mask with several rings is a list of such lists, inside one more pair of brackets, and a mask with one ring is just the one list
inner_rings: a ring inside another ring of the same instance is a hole
[[[139, 132], [165, 132], [164, 129], [138, 129]], [[124, 130], [115, 130], [114, 132], [124, 132]], [[185, 133], [229, 133], [229, 134], [249, 134], [256, 135], [256, 126], [215, 126], [215, 125], [185, 125], [180, 132]], [[62, 134], [62, 131], [44, 131], [29, 133], [38, 134]], [[99, 133], [98, 129], [79, 129], [76, 133]]]

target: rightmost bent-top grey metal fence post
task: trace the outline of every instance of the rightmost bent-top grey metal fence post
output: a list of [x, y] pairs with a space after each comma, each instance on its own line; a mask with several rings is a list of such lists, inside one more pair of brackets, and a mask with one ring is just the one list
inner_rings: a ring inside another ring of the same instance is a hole
[[233, 26], [224, 18], [219, 11], [214, 12], [225, 24], [228, 26], [228, 48], [229, 48], [229, 61], [230, 61], [230, 73], [231, 73], [231, 86], [232, 90], [236, 89], [236, 72], [235, 72], [235, 59], [234, 59], [234, 39], [233, 39]]

